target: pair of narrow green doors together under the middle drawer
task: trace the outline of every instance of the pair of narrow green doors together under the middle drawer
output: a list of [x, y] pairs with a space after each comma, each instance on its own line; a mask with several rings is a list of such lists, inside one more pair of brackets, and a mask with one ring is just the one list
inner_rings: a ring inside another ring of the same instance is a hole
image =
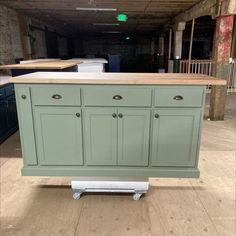
[[149, 110], [85, 109], [88, 165], [147, 166]]

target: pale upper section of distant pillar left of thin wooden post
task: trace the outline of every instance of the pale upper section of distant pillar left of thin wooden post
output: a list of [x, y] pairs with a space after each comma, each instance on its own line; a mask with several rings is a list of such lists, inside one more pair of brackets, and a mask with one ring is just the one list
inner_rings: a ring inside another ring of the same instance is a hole
[[173, 27], [174, 30], [174, 58], [177, 56], [182, 57], [182, 42], [183, 42], [183, 30], [185, 30], [185, 22], [179, 22]]

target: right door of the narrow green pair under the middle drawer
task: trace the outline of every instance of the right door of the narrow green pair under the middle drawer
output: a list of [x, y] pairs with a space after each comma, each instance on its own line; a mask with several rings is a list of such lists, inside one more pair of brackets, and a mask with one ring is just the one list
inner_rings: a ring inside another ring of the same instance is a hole
[[150, 111], [118, 110], [118, 165], [147, 166]]

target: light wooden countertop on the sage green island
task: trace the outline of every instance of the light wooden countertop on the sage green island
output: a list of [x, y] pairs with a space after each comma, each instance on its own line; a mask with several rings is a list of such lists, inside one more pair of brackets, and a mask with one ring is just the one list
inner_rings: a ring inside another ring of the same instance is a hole
[[226, 85], [226, 80], [215, 77], [180, 73], [35, 72], [12, 77], [10, 82], [27, 84]]

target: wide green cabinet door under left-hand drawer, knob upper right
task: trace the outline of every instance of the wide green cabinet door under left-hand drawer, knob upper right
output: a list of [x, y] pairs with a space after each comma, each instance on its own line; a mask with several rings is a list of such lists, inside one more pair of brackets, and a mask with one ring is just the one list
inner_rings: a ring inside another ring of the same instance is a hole
[[81, 110], [35, 108], [36, 149], [40, 165], [82, 165]]

